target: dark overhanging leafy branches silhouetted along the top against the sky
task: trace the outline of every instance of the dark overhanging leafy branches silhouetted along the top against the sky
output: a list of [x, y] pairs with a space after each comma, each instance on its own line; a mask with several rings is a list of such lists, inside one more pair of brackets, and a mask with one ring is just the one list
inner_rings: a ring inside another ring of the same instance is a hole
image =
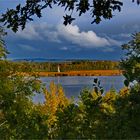
[[[140, 3], [140, 0], [132, 0]], [[28, 21], [33, 21], [32, 16], [41, 18], [42, 10], [53, 8], [54, 5], [61, 6], [71, 14], [63, 16], [64, 25], [71, 24], [75, 18], [72, 17], [73, 11], [77, 11], [79, 16], [90, 11], [93, 21], [91, 23], [100, 23], [102, 19], [111, 19], [113, 11], [121, 11], [123, 2], [120, 0], [26, 0], [25, 6], [21, 4], [16, 9], [7, 10], [2, 14], [0, 21], [17, 32], [18, 27], [25, 28]]]

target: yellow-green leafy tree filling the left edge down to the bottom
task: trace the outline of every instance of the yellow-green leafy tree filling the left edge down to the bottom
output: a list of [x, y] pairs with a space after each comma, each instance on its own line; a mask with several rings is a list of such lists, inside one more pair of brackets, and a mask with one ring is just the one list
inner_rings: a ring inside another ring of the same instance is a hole
[[[0, 58], [6, 57], [4, 30], [0, 30]], [[22, 69], [22, 67], [21, 67]], [[17, 74], [19, 68], [0, 59], [0, 138], [45, 139], [47, 116], [42, 115], [32, 101], [34, 92], [41, 92], [41, 85], [34, 76]]]

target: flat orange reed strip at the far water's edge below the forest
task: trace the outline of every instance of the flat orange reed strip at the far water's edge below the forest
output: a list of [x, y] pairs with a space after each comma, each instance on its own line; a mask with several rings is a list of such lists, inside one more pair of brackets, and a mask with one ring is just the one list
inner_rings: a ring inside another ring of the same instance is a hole
[[49, 76], [119, 76], [122, 75], [122, 70], [82, 70], [82, 71], [67, 71], [67, 72], [35, 72], [40, 77]]

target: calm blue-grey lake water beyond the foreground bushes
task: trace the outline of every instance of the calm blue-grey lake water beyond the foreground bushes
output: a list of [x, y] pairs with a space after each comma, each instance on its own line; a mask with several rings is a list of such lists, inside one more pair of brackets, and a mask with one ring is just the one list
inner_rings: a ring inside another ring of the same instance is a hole
[[[123, 76], [66, 76], [66, 77], [41, 77], [41, 81], [46, 85], [46, 88], [49, 88], [50, 82], [55, 84], [62, 85], [64, 92], [68, 98], [74, 96], [78, 98], [80, 91], [83, 88], [93, 88], [93, 80], [98, 78], [101, 81], [101, 86], [105, 91], [108, 91], [110, 88], [115, 88], [116, 91], [119, 91], [123, 85]], [[43, 95], [36, 95], [34, 97], [35, 102], [43, 102]]]

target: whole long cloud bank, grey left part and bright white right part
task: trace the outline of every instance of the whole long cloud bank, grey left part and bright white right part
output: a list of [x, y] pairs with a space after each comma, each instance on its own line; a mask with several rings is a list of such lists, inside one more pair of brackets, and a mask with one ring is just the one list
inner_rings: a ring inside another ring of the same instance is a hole
[[[105, 51], [114, 49], [112, 46], [121, 46], [121, 42], [108, 36], [101, 37], [94, 31], [81, 31], [77, 25], [50, 26], [46, 23], [30, 24], [25, 30], [18, 31], [17, 37], [31, 41], [49, 41], [54, 43], [67, 42], [79, 48], [102, 48]], [[111, 48], [111, 49], [110, 49]], [[60, 48], [66, 50], [66, 48]]]

